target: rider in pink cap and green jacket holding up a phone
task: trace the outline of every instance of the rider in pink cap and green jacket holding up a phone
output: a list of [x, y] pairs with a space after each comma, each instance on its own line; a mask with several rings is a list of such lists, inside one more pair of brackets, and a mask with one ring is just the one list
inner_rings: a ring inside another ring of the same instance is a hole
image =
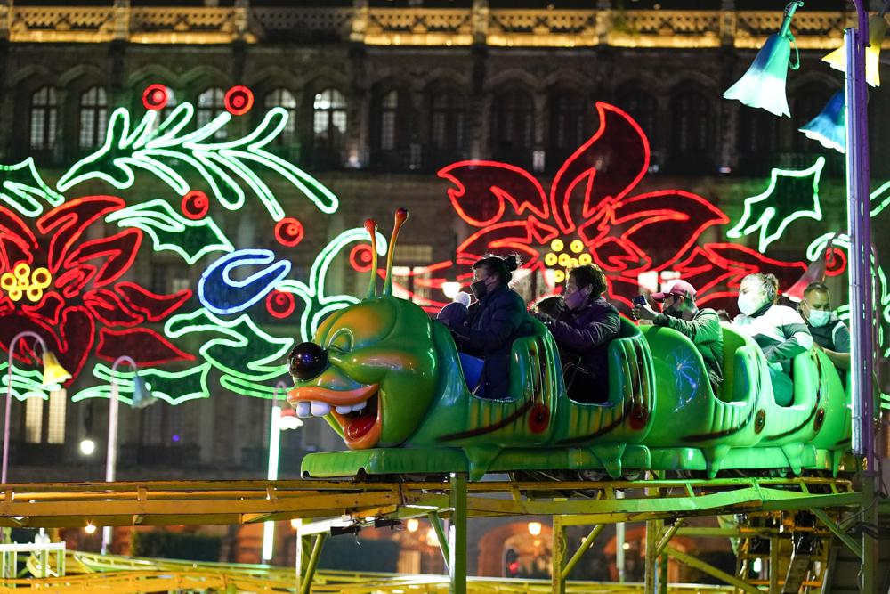
[[635, 305], [637, 320], [651, 320], [656, 326], [667, 326], [692, 340], [701, 354], [714, 395], [720, 394], [723, 383], [723, 330], [720, 318], [709, 307], [695, 305], [695, 288], [686, 281], [675, 281], [667, 291], [653, 293], [661, 305], [656, 313], [649, 305]]

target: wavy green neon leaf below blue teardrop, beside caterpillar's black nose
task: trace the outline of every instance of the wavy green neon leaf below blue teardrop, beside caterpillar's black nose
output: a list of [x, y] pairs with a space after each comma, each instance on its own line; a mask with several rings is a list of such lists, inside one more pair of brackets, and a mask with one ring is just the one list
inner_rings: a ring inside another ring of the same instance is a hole
[[[164, 331], [170, 338], [198, 333], [204, 342], [200, 354], [223, 372], [223, 378], [254, 383], [285, 374], [287, 352], [294, 345], [293, 338], [277, 338], [260, 330], [247, 313], [225, 321], [204, 308], [174, 315], [166, 321]], [[214, 335], [218, 337], [211, 338]]]

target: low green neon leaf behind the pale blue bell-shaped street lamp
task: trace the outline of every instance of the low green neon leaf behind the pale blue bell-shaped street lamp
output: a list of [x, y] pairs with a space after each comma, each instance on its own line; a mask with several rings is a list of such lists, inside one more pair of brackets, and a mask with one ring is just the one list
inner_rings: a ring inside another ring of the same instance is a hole
[[[147, 387], [156, 398], [169, 404], [181, 404], [196, 398], [209, 398], [210, 388], [207, 386], [207, 377], [212, 366], [204, 362], [196, 367], [182, 371], [166, 371], [153, 368], [139, 370], [139, 377], [145, 381]], [[117, 397], [120, 402], [133, 405], [133, 371], [117, 370], [115, 380], [117, 382]], [[93, 376], [98, 378], [100, 386], [87, 387], [71, 397], [71, 402], [76, 403], [86, 398], [109, 398], [111, 396], [111, 368], [102, 363], [93, 367]]]

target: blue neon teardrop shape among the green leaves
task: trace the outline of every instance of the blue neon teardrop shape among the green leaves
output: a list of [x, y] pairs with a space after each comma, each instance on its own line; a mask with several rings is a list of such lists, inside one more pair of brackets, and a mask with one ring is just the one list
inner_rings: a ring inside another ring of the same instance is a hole
[[274, 260], [274, 252], [268, 249], [240, 249], [221, 257], [210, 264], [198, 281], [201, 304], [220, 315], [243, 312], [287, 276], [290, 262], [279, 260], [241, 281], [233, 279], [232, 273], [244, 266], [269, 264]]

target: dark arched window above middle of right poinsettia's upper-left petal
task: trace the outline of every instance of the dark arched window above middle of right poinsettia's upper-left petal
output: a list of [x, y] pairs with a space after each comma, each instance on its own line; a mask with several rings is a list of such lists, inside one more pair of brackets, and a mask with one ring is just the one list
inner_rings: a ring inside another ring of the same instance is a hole
[[495, 159], [530, 160], [535, 140], [535, 102], [531, 94], [516, 89], [498, 94], [491, 115]]

